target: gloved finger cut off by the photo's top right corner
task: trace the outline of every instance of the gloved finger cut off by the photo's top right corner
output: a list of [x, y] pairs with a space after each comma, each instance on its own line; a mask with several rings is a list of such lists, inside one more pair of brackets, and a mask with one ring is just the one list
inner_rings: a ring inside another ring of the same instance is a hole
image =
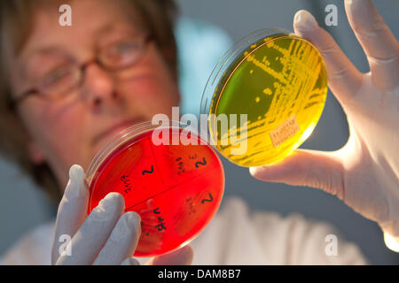
[[369, 60], [374, 83], [382, 89], [398, 86], [399, 44], [371, 0], [346, 0], [348, 21]]

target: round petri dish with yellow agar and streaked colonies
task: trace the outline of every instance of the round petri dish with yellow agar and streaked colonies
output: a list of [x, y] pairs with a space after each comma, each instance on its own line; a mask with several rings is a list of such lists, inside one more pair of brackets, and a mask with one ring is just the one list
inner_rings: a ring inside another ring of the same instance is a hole
[[207, 133], [224, 157], [258, 166], [301, 146], [326, 96], [325, 64], [316, 47], [285, 29], [267, 28], [247, 35], [220, 59], [200, 113], [207, 115]]

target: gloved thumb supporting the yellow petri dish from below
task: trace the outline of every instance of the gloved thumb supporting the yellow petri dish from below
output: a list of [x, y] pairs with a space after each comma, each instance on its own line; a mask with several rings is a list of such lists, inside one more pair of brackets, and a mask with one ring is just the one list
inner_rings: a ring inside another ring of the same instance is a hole
[[296, 149], [276, 164], [251, 167], [249, 172], [258, 180], [317, 187], [343, 199], [343, 165], [336, 151]]

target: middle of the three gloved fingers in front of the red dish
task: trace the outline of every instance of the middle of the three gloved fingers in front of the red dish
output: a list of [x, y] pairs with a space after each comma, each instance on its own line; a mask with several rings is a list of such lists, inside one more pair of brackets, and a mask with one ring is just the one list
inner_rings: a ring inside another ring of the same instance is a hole
[[71, 255], [59, 256], [57, 264], [93, 264], [124, 209], [122, 195], [118, 193], [106, 195], [74, 234], [71, 241]]

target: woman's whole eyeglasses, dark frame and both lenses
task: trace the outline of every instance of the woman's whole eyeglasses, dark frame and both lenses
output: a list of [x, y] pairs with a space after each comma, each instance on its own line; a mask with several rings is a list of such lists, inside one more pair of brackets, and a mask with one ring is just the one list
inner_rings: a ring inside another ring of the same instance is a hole
[[37, 80], [35, 88], [28, 89], [17, 98], [10, 99], [10, 107], [14, 109], [18, 103], [32, 95], [47, 100], [57, 100], [66, 96], [82, 86], [86, 69], [93, 63], [101, 66], [107, 72], [121, 74], [137, 63], [144, 54], [145, 47], [151, 41], [153, 41], [153, 34], [126, 38], [99, 50], [96, 58], [82, 65], [72, 62], [63, 65]]

